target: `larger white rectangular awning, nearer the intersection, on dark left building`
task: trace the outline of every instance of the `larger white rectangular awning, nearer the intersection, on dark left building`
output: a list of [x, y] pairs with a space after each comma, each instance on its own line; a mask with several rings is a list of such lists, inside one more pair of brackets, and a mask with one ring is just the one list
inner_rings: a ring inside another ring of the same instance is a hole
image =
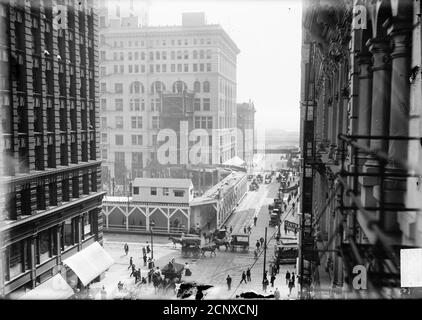
[[63, 261], [86, 286], [114, 263], [113, 258], [98, 243], [79, 251]]

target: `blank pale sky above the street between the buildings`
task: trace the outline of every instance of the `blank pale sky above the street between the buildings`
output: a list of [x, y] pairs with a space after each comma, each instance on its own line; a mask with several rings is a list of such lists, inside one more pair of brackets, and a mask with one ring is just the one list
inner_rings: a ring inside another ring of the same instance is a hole
[[254, 101], [257, 126], [299, 131], [300, 1], [153, 0], [150, 25], [180, 25], [182, 12], [198, 11], [239, 47], [237, 102]]

